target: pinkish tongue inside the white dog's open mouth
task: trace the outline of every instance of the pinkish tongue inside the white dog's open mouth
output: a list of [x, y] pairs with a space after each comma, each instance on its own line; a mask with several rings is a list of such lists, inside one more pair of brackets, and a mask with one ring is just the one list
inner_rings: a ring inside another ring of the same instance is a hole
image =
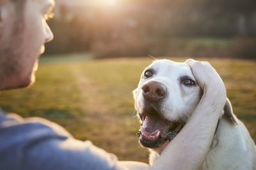
[[161, 136], [164, 137], [168, 132], [170, 122], [166, 122], [159, 115], [147, 115], [143, 121], [142, 128], [143, 131], [146, 131], [148, 134], [153, 134], [157, 130], [161, 132]]

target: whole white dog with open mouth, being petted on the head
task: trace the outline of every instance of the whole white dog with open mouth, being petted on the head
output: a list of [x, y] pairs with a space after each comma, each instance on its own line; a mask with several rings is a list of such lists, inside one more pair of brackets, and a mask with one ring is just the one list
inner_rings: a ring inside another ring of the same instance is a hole
[[[133, 94], [141, 122], [139, 141], [150, 148], [152, 164], [193, 114], [203, 91], [188, 64], [163, 59], [145, 68]], [[255, 170], [255, 143], [228, 99], [223, 110], [202, 169]]]

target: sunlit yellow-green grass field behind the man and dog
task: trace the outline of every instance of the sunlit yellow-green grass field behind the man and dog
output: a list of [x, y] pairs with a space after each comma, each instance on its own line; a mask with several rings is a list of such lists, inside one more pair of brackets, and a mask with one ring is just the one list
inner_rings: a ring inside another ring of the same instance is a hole
[[[256, 62], [207, 60], [220, 73], [234, 113], [256, 141]], [[131, 92], [144, 67], [151, 62], [150, 57], [104, 60], [90, 60], [83, 54], [73, 58], [45, 57], [40, 60], [35, 85], [3, 92], [0, 106], [22, 117], [52, 120], [75, 138], [90, 139], [120, 160], [147, 162], [148, 152], [138, 145], [136, 137], [140, 125], [134, 117]]]

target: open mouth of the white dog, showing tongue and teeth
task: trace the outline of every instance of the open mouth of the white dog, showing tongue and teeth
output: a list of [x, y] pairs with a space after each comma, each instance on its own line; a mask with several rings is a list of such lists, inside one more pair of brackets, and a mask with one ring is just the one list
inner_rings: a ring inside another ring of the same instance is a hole
[[153, 108], [147, 110], [147, 113], [139, 113], [142, 124], [139, 132], [141, 145], [147, 148], [158, 148], [166, 140], [172, 140], [184, 126], [181, 122], [170, 122]]

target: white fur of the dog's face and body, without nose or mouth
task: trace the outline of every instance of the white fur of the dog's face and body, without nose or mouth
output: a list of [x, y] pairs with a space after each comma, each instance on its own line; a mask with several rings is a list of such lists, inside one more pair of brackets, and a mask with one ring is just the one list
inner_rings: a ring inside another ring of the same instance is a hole
[[[148, 69], [154, 73], [149, 78], [145, 77], [144, 74]], [[195, 111], [203, 93], [197, 85], [188, 64], [166, 59], [155, 60], [145, 71], [141, 74], [138, 88], [133, 92], [136, 111], [138, 113], [143, 112], [148, 104], [145, 102], [146, 99], [141, 87], [149, 81], [157, 81], [167, 87], [167, 94], [164, 99], [157, 101], [157, 104], [155, 104], [155, 108], [157, 108], [161, 117], [171, 122], [186, 123]], [[186, 86], [182, 84], [182, 77], [191, 78], [195, 81], [195, 85]], [[223, 109], [223, 115], [216, 128], [211, 148], [205, 157], [202, 169], [256, 169], [255, 143], [244, 124], [234, 115], [228, 99]], [[167, 140], [162, 146], [150, 149], [150, 164], [157, 159], [169, 142]]]

